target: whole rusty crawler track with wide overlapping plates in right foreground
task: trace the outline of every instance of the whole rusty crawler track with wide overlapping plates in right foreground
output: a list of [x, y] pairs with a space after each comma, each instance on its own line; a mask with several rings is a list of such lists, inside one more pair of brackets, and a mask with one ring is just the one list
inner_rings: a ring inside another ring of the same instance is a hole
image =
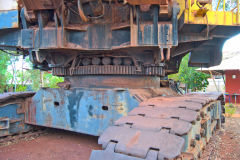
[[141, 102], [99, 138], [90, 160], [198, 159], [221, 127], [223, 96], [192, 93]]

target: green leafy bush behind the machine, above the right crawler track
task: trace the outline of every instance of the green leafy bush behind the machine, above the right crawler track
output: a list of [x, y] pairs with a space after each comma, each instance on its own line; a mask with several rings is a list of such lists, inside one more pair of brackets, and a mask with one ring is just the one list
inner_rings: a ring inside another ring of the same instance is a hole
[[189, 54], [183, 57], [179, 72], [169, 76], [169, 79], [179, 81], [187, 85], [192, 91], [199, 91], [208, 86], [208, 74], [196, 71], [196, 67], [188, 67]]

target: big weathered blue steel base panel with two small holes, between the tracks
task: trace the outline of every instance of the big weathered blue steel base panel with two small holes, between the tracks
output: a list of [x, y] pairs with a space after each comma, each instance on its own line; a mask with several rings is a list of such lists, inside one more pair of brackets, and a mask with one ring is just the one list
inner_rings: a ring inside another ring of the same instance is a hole
[[41, 89], [26, 123], [98, 136], [138, 104], [128, 90]]

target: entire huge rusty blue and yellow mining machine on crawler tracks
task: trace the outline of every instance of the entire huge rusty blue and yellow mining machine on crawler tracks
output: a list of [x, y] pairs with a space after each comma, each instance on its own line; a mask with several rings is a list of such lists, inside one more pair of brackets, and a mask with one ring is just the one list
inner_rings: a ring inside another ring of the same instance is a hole
[[58, 89], [1, 95], [0, 136], [37, 125], [100, 136], [91, 160], [198, 159], [223, 95], [179, 95], [167, 76], [189, 52], [190, 66], [221, 62], [240, 32], [236, 2], [0, 0], [0, 49], [64, 77]]

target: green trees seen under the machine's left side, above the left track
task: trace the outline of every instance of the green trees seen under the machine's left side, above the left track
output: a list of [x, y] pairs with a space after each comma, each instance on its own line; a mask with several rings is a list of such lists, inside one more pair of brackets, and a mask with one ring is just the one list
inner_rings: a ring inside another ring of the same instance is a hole
[[41, 87], [58, 88], [57, 83], [64, 81], [62, 77], [33, 69], [28, 57], [24, 61], [29, 64], [30, 68], [19, 66], [19, 63], [17, 64], [20, 59], [18, 56], [11, 56], [3, 52], [0, 52], [0, 56], [0, 93], [4, 91], [37, 91]]

